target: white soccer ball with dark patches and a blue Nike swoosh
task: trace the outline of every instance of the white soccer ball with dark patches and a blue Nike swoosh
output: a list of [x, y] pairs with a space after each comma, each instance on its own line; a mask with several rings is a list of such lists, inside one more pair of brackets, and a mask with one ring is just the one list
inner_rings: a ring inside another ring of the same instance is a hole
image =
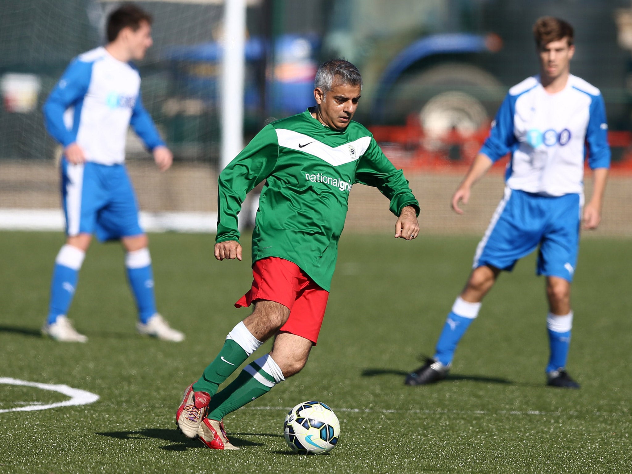
[[283, 434], [295, 453], [325, 454], [336, 447], [340, 423], [329, 406], [320, 401], [304, 401], [288, 411]]

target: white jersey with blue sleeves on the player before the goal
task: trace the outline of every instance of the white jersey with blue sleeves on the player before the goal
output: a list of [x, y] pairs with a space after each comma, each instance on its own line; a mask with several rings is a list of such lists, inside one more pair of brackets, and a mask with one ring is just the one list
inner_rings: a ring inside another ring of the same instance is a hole
[[140, 75], [104, 47], [73, 59], [44, 104], [46, 128], [64, 147], [76, 142], [86, 160], [125, 161], [131, 125], [149, 150], [164, 145], [140, 98]]

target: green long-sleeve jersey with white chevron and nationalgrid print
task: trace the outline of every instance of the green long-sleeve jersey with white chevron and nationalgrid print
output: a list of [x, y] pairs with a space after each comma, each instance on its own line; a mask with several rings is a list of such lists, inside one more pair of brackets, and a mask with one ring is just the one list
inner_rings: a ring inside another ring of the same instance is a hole
[[239, 240], [241, 204], [264, 179], [253, 263], [284, 258], [327, 291], [354, 183], [378, 188], [396, 216], [407, 205], [419, 209], [403, 172], [366, 128], [351, 121], [342, 131], [332, 130], [308, 109], [265, 126], [219, 175], [217, 242]]

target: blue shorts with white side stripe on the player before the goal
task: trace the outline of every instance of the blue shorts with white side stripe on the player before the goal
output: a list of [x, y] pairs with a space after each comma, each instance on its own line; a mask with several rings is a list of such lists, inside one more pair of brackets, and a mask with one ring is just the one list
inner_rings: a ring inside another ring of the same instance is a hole
[[66, 235], [96, 234], [100, 241], [143, 233], [138, 202], [123, 164], [61, 161], [61, 202]]

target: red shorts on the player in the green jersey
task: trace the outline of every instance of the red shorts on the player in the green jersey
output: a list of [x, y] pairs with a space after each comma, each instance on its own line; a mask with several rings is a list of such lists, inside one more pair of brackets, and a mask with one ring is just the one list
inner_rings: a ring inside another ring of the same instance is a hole
[[305, 337], [316, 344], [327, 307], [329, 291], [315, 284], [298, 265], [279, 257], [257, 260], [252, 266], [250, 291], [235, 303], [236, 308], [253, 301], [276, 301], [289, 309], [289, 318], [281, 332]]

